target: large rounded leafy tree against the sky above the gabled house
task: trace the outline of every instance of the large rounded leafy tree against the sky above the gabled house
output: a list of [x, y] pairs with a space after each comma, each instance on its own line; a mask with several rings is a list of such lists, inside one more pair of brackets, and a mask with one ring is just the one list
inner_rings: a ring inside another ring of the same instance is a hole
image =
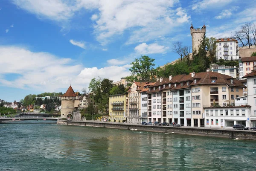
[[135, 59], [131, 65], [132, 67], [129, 69], [131, 71], [131, 75], [139, 78], [140, 81], [151, 81], [155, 73], [157, 72], [154, 69], [154, 59], [149, 58], [148, 56], [141, 56], [139, 59]]

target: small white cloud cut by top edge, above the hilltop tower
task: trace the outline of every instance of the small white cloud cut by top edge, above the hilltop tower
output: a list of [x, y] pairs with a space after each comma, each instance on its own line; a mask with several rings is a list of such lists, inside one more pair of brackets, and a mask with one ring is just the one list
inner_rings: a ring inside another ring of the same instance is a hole
[[234, 0], [196, 0], [193, 2], [192, 10], [221, 8]]

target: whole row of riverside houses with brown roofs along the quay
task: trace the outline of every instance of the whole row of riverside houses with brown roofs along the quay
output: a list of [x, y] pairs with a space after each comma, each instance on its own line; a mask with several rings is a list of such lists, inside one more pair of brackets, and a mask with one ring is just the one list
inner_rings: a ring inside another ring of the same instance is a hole
[[[138, 124], [158, 121], [192, 127], [254, 126], [256, 110], [252, 113], [254, 107], [248, 103], [252, 92], [248, 90], [248, 96], [244, 96], [244, 90], [246, 86], [238, 79], [209, 70], [170, 75], [155, 83], [134, 81], [127, 93], [109, 96], [109, 115], [112, 121]], [[253, 96], [256, 98], [256, 90]]]

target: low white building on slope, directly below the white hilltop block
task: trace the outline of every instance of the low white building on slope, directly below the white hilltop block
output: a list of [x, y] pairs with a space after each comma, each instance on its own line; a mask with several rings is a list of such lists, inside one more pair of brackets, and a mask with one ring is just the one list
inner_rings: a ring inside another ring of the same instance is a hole
[[223, 75], [229, 75], [233, 78], [237, 78], [237, 70], [238, 68], [236, 66], [224, 66], [224, 65], [211, 68], [212, 72], [218, 72]]

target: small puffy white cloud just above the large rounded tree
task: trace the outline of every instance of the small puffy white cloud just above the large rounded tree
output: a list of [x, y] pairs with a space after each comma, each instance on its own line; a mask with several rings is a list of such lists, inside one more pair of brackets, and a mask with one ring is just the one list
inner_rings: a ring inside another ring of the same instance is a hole
[[153, 54], [153, 53], [166, 53], [169, 47], [160, 46], [157, 43], [147, 44], [141, 43], [140, 45], [136, 46], [134, 50], [140, 54]]

